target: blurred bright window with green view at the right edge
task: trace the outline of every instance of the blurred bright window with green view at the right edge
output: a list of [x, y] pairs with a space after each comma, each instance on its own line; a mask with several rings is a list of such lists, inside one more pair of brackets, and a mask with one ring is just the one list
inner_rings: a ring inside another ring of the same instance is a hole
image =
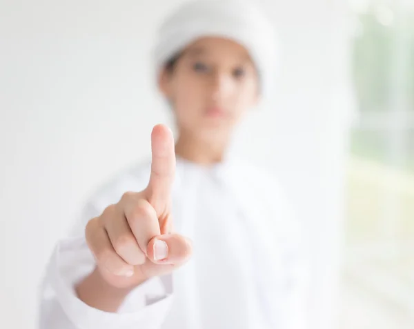
[[344, 329], [414, 328], [414, 0], [355, 17]]

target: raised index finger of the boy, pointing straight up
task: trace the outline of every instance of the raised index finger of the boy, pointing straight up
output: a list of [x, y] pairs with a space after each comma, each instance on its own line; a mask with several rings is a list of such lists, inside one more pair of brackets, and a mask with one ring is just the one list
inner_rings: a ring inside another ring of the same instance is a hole
[[157, 125], [151, 133], [151, 175], [147, 192], [150, 200], [159, 204], [168, 202], [175, 176], [175, 146], [171, 130]]

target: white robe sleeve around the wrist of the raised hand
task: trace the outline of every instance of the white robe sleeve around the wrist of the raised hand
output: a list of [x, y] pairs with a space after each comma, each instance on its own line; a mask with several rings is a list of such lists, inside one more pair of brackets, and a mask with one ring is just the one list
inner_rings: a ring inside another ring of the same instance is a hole
[[[80, 226], [95, 217], [89, 204]], [[72, 232], [81, 232], [75, 228]], [[103, 312], [81, 301], [75, 285], [92, 269], [95, 259], [85, 238], [70, 237], [57, 243], [40, 289], [39, 329], [136, 329], [161, 327], [172, 299], [170, 280], [154, 277], [132, 290], [119, 310]]]

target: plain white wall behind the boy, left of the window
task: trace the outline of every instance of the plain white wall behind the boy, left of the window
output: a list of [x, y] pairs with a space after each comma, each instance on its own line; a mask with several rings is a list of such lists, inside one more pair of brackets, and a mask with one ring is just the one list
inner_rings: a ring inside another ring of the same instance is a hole
[[[168, 122], [148, 51], [179, 2], [0, 2], [0, 328], [34, 328], [56, 239], [97, 184], [149, 154], [152, 125]], [[323, 316], [332, 287], [321, 283], [336, 279], [342, 217], [345, 12], [339, 0], [262, 2], [279, 27], [282, 73], [239, 150], [277, 170], [293, 197], [311, 238], [313, 324], [333, 328]]]

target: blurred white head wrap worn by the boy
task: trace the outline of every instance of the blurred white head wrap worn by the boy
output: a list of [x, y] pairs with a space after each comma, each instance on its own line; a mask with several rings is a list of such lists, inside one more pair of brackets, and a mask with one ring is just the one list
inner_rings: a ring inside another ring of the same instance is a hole
[[159, 29], [154, 52], [157, 73], [200, 37], [225, 37], [244, 46], [259, 73], [262, 97], [271, 93], [277, 61], [275, 31], [257, 6], [235, 0], [198, 0], [181, 5]]

